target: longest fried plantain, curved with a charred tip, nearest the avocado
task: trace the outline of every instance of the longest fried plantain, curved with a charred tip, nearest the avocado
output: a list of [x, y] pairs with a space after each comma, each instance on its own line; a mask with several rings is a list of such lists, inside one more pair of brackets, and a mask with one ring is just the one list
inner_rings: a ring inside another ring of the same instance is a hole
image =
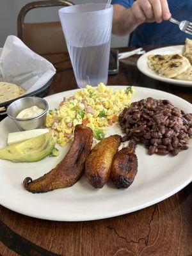
[[24, 187], [32, 193], [44, 193], [74, 185], [84, 172], [84, 163], [90, 154], [92, 142], [92, 129], [76, 125], [74, 142], [63, 160], [49, 173], [36, 180], [29, 177], [24, 179]]

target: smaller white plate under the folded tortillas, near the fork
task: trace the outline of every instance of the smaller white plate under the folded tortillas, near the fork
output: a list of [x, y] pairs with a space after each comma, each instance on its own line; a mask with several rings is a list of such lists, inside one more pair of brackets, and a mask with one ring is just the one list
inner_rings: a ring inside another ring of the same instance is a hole
[[143, 54], [139, 58], [137, 62], [138, 69], [143, 74], [153, 79], [156, 79], [165, 83], [175, 84], [178, 86], [192, 87], [192, 81], [177, 80], [177, 79], [159, 76], [156, 72], [148, 68], [148, 65], [147, 65], [147, 56], [150, 54], [173, 54], [173, 53], [182, 54], [183, 51], [184, 51], [184, 45], [168, 46], [168, 47], [163, 47], [163, 48], [149, 51], [146, 54]]

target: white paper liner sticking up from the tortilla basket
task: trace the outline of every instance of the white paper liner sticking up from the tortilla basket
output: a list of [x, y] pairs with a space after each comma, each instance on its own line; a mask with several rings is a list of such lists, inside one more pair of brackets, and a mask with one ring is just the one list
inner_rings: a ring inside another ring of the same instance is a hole
[[0, 80], [19, 85], [26, 93], [41, 88], [56, 73], [49, 61], [31, 51], [17, 36], [6, 38], [0, 55]]

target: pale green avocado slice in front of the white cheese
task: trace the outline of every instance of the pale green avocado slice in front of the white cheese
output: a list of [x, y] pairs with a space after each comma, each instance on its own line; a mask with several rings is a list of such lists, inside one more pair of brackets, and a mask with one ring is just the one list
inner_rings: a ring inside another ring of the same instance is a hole
[[56, 145], [52, 131], [0, 150], [0, 158], [13, 162], [36, 162], [49, 156]]

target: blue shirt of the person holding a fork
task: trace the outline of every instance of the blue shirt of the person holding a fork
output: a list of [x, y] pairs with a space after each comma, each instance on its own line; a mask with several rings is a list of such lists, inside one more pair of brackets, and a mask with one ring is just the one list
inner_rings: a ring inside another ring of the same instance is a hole
[[[130, 8], [134, 0], [112, 0], [112, 4], [121, 4]], [[168, 0], [170, 13], [177, 20], [192, 22], [191, 0]], [[131, 33], [129, 45], [143, 46], [154, 44], [184, 43], [186, 38], [192, 36], [180, 31], [176, 24], [163, 20], [161, 23], [143, 23]]]

